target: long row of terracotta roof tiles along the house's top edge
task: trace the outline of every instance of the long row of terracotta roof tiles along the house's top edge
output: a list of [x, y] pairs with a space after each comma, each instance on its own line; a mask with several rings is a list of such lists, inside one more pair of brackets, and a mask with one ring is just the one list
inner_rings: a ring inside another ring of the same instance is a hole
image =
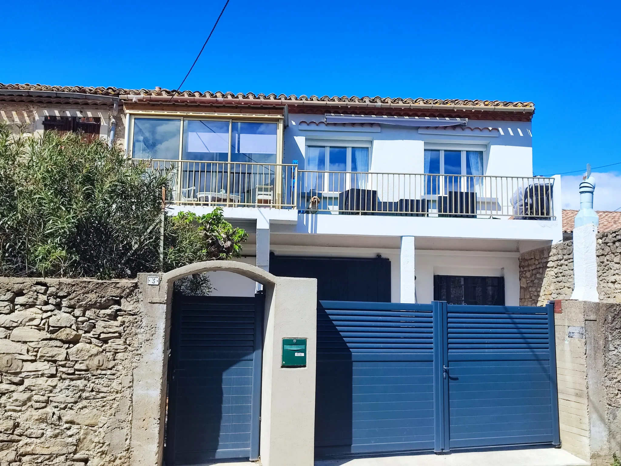
[[[145, 96], [171, 96], [173, 91], [170, 89], [124, 89], [102, 86], [86, 87], [86, 86], [48, 86], [40, 84], [3, 84], [0, 83], [0, 90], [5, 91], [48, 91], [48, 92], [67, 92], [78, 94], [94, 94], [100, 96], [121, 96], [121, 95], [145, 95]], [[337, 103], [383, 103], [383, 104], [424, 104], [424, 105], [450, 105], [450, 106], [476, 106], [476, 107], [517, 107], [517, 108], [534, 108], [532, 102], [509, 102], [509, 101], [489, 101], [480, 99], [423, 99], [423, 98], [391, 98], [391, 97], [369, 97], [369, 96], [296, 96], [294, 94], [286, 95], [274, 93], [271, 94], [255, 94], [255, 93], [237, 93], [232, 92], [200, 92], [200, 91], [181, 91], [174, 93], [175, 96], [183, 97], [207, 97], [207, 98], [225, 98], [225, 99], [256, 99], [256, 100], [279, 100], [291, 102], [337, 102]]]

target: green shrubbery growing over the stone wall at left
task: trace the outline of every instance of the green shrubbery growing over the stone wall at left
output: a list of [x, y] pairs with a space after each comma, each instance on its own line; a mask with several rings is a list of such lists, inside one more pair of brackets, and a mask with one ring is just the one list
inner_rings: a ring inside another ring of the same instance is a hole
[[[0, 275], [124, 278], [160, 270], [166, 173], [78, 134], [14, 136], [0, 124]], [[222, 217], [165, 217], [163, 270], [238, 255]]]

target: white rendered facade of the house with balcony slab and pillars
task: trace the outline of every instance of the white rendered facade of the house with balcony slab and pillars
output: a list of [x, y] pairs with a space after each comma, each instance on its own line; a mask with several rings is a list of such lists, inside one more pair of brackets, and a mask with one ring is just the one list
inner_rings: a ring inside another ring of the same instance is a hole
[[[369, 148], [371, 173], [424, 173], [426, 148], [483, 152], [486, 176], [527, 176], [532, 172], [530, 122], [468, 121], [468, 128], [368, 127], [322, 123], [323, 114], [290, 114], [284, 129], [283, 163], [303, 170], [309, 145]], [[561, 212], [560, 176], [555, 177], [554, 211]], [[178, 206], [174, 209], [187, 209]], [[209, 206], [193, 206], [207, 212]], [[308, 214], [299, 209], [224, 208], [225, 217], [250, 233], [243, 262], [265, 265], [269, 251], [301, 257], [376, 257], [391, 262], [391, 300], [429, 303], [434, 275], [503, 276], [505, 304], [519, 304], [520, 252], [562, 240], [560, 215], [551, 220], [500, 218]], [[259, 229], [260, 234], [256, 234]], [[255, 243], [255, 238], [260, 240]], [[256, 251], [256, 253], [255, 253]], [[256, 258], [263, 258], [259, 264]], [[416, 277], [414, 281], [414, 276]], [[212, 276], [217, 295], [255, 285], [235, 276]], [[415, 285], [414, 285], [415, 283]]]

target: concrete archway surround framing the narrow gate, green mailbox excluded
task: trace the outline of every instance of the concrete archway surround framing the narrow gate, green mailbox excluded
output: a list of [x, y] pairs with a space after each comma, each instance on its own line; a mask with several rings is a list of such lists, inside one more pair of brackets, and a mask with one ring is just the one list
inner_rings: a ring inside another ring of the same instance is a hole
[[[164, 274], [138, 275], [142, 291], [144, 342], [134, 370], [132, 396], [132, 466], [160, 466], [163, 460], [166, 373], [173, 284], [203, 272], [233, 272], [265, 288], [263, 377], [261, 382], [261, 463], [265, 466], [312, 466], [314, 459], [317, 280], [272, 275], [247, 263], [197, 262]], [[307, 366], [281, 368], [281, 340], [307, 339]], [[295, 413], [295, 429], [291, 427]]]

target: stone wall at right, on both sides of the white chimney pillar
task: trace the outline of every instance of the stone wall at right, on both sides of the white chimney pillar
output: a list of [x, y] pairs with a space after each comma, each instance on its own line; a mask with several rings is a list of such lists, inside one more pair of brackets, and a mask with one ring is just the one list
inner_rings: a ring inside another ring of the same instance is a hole
[[[621, 230], [597, 234], [597, 292], [605, 303], [621, 303]], [[574, 286], [571, 241], [520, 255], [520, 304], [543, 306], [569, 299]]]

